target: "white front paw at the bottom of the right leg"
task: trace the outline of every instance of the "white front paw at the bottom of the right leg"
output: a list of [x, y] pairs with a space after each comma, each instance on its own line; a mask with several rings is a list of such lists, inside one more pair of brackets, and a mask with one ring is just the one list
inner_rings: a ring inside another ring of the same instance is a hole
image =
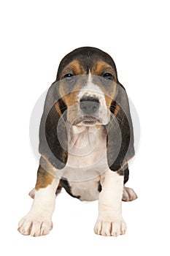
[[122, 218], [106, 220], [98, 217], [94, 232], [101, 236], [120, 236], [124, 235], [126, 230], [125, 222]]

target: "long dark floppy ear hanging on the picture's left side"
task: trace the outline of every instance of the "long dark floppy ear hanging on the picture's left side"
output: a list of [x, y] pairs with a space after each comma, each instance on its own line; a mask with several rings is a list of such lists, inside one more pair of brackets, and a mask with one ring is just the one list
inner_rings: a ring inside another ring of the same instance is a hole
[[55, 81], [47, 91], [44, 112], [39, 127], [39, 153], [57, 169], [66, 165], [67, 132], [66, 105]]

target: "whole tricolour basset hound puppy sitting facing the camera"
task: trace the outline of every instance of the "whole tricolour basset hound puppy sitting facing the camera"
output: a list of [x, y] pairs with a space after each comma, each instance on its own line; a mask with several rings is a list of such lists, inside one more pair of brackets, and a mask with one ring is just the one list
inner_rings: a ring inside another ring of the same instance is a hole
[[121, 200], [134, 200], [128, 160], [134, 156], [133, 127], [115, 63], [96, 48], [65, 56], [50, 87], [39, 130], [40, 165], [31, 211], [18, 230], [42, 236], [52, 228], [55, 193], [63, 187], [80, 200], [97, 200], [95, 233], [125, 233]]

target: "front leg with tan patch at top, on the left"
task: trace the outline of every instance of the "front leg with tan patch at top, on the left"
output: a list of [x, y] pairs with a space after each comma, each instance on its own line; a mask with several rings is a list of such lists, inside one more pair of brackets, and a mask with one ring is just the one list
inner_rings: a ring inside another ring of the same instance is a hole
[[52, 214], [55, 208], [55, 191], [59, 180], [41, 166], [37, 173], [34, 201], [31, 210], [18, 224], [23, 235], [47, 235], [53, 227]]

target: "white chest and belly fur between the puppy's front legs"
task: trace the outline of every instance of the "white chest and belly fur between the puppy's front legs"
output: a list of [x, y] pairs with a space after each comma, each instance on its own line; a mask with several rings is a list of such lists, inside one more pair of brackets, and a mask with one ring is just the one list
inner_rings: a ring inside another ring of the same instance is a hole
[[108, 170], [107, 134], [103, 126], [75, 127], [70, 130], [69, 154], [62, 177], [69, 181], [81, 200], [98, 199], [98, 181]]

